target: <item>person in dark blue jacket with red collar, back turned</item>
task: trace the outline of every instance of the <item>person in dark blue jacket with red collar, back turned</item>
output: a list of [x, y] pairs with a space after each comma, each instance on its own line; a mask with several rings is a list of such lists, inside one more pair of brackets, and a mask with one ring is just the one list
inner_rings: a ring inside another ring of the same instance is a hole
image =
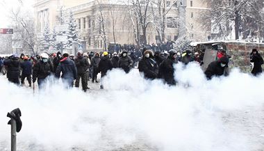
[[72, 88], [74, 80], [77, 78], [77, 69], [74, 61], [69, 59], [69, 53], [67, 51], [63, 53], [63, 59], [60, 60], [55, 77], [60, 78], [60, 72], [63, 73], [61, 78], [63, 79], [65, 88]]

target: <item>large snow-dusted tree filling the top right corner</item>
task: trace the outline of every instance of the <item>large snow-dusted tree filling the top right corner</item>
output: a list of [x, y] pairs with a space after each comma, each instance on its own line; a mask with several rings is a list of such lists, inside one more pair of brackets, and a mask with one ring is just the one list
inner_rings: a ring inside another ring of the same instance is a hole
[[204, 15], [205, 26], [212, 26], [217, 37], [226, 38], [233, 28], [236, 39], [261, 36], [263, 0], [208, 0], [211, 8]]

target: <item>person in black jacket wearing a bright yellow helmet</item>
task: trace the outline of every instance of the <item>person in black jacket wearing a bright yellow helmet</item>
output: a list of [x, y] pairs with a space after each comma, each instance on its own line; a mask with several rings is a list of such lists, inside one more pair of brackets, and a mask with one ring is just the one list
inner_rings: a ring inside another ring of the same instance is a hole
[[106, 73], [109, 70], [112, 70], [113, 68], [113, 64], [110, 60], [110, 58], [108, 58], [108, 52], [104, 51], [103, 53], [103, 57], [101, 58], [101, 61], [99, 62], [99, 67], [98, 67], [98, 72], [101, 72], [101, 89], [104, 89], [104, 86], [102, 84], [102, 79], [106, 76]]

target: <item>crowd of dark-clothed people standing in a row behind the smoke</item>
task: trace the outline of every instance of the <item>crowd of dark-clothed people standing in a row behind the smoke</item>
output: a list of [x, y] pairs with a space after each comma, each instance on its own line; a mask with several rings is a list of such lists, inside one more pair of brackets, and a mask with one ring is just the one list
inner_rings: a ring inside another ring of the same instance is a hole
[[[188, 63], [195, 61], [199, 65], [203, 65], [205, 49], [201, 52], [193, 52], [190, 49], [179, 52], [174, 49], [165, 53], [160, 50], [153, 51], [152, 49], [143, 48], [140, 54], [135, 51], [127, 51], [123, 49], [121, 52], [111, 54], [108, 51], [104, 52], [87, 52], [78, 51], [76, 55], [69, 54], [63, 51], [63, 54], [58, 51], [57, 54], [42, 53], [36, 57], [28, 55], [13, 54], [6, 58], [0, 58], [0, 70], [6, 74], [8, 81], [24, 86], [25, 79], [31, 87], [32, 83], [37, 81], [38, 88], [41, 90], [47, 82], [48, 77], [53, 75], [56, 79], [61, 78], [65, 88], [73, 86], [79, 88], [80, 80], [83, 91], [90, 89], [88, 81], [92, 79], [92, 83], [99, 83], [97, 74], [101, 73], [103, 80], [107, 72], [113, 68], [119, 68], [124, 72], [129, 73], [131, 69], [138, 68], [139, 72], [145, 79], [163, 79], [170, 85], [176, 85], [177, 81], [174, 78], [176, 63]], [[252, 49], [250, 61], [254, 63], [252, 74], [257, 76], [261, 74], [263, 58], [256, 49]], [[204, 72], [209, 80], [212, 77], [227, 76], [227, 67], [229, 64], [229, 56], [226, 51], [220, 50], [217, 54], [216, 61], [210, 63]], [[6, 73], [5, 73], [6, 71]], [[100, 88], [104, 89], [101, 82]]]

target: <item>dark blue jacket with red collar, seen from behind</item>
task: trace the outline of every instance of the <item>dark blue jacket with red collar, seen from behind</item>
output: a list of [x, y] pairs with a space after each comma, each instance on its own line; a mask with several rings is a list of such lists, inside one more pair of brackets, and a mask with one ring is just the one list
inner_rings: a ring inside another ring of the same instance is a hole
[[63, 75], [61, 76], [63, 79], [77, 78], [76, 65], [74, 64], [74, 61], [69, 58], [63, 58], [60, 61], [56, 69], [55, 77], [60, 78], [60, 72], [63, 72]]

